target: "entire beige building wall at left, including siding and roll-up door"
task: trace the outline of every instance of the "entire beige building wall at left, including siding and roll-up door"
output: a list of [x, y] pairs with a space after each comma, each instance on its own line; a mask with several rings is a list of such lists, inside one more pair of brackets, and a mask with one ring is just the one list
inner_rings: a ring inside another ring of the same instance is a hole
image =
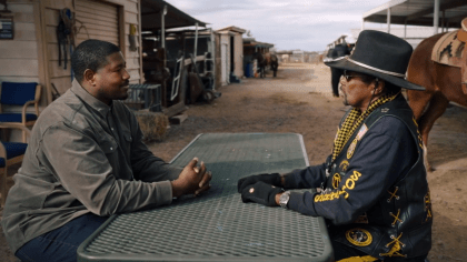
[[[41, 84], [40, 111], [52, 102], [51, 83], [60, 93], [64, 93], [71, 85], [69, 51], [67, 69], [58, 64], [56, 29], [59, 12], [63, 8], [77, 13], [79, 21], [76, 26], [81, 30], [76, 44], [89, 38], [117, 43], [127, 60], [130, 83], [142, 82], [139, 0], [7, 0], [7, 3], [11, 13], [2, 16], [13, 17], [14, 39], [0, 40], [0, 83], [13, 81]], [[3, 4], [0, 8], [3, 9]], [[130, 51], [130, 24], [137, 28], [136, 51]], [[4, 108], [4, 111], [19, 110], [19, 107]], [[33, 111], [32, 107], [30, 111]], [[16, 141], [17, 135], [13, 133], [12, 141]]]

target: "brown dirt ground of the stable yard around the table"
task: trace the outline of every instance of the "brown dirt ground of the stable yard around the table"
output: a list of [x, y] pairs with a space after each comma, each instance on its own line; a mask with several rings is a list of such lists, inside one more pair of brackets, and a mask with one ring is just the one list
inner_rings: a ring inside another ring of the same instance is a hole
[[[170, 161], [199, 133], [295, 132], [304, 137], [310, 164], [319, 164], [330, 153], [347, 109], [330, 95], [329, 68], [324, 64], [280, 64], [277, 78], [268, 73], [266, 79], [242, 79], [218, 91], [222, 95], [211, 104], [189, 105], [188, 119], [171, 125], [161, 142], [149, 143], [150, 150]], [[430, 133], [428, 159], [436, 169], [428, 173], [434, 210], [430, 262], [467, 261], [466, 131], [467, 110], [450, 107]], [[0, 261], [14, 261], [2, 233]]]

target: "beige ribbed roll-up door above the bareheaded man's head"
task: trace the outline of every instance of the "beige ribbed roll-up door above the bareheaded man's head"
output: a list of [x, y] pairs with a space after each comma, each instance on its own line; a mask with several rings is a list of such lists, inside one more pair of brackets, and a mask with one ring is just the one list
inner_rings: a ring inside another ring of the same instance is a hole
[[101, 1], [79, 0], [74, 1], [74, 11], [77, 28], [80, 29], [76, 38], [77, 46], [87, 39], [98, 39], [120, 47], [117, 6]]

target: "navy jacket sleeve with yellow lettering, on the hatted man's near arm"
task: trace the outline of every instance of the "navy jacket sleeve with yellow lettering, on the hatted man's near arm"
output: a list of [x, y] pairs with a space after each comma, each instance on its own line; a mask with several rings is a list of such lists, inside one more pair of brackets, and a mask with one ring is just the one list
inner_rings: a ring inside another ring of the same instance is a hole
[[384, 118], [357, 145], [337, 189], [325, 194], [292, 192], [288, 206], [334, 224], [351, 223], [410, 170], [416, 157], [408, 128], [396, 118]]

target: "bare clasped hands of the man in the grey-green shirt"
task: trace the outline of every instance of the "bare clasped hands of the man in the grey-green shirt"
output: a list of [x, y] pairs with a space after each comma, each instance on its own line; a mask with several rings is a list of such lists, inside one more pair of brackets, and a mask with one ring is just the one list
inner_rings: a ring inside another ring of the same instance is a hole
[[206, 171], [205, 163], [201, 162], [197, 167], [198, 158], [192, 159], [187, 167], [181, 171], [177, 180], [172, 181], [172, 196], [180, 196], [182, 194], [198, 195], [201, 192], [210, 189], [209, 181], [212, 174]]

